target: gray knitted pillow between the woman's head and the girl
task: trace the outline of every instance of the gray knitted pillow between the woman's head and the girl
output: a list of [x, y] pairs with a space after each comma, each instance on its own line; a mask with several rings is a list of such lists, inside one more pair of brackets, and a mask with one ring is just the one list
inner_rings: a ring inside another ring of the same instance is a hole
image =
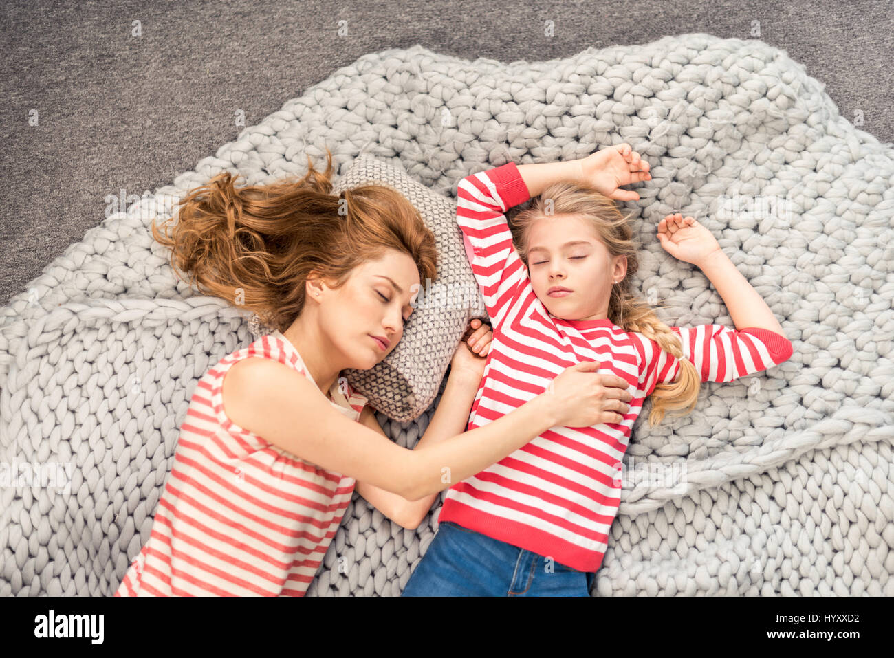
[[[434, 402], [453, 352], [469, 320], [487, 320], [485, 301], [468, 265], [462, 233], [456, 223], [456, 204], [429, 190], [397, 166], [361, 154], [333, 184], [333, 193], [359, 185], [384, 184], [398, 190], [422, 215], [434, 233], [438, 274], [434, 282], [421, 282], [417, 306], [404, 327], [401, 341], [391, 353], [368, 370], [346, 369], [342, 374], [369, 403], [388, 418], [415, 420]], [[249, 323], [257, 336], [270, 333], [257, 316]]]

